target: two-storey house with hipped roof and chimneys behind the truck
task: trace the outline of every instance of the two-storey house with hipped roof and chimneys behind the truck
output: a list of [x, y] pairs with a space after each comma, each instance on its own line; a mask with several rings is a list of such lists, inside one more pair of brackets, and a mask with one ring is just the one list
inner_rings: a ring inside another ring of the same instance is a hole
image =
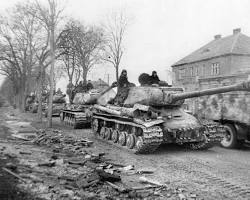
[[[233, 34], [214, 39], [172, 65], [173, 85], [195, 91], [230, 85], [250, 77], [250, 37], [234, 29]], [[187, 100], [195, 112], [197, 100]]]

